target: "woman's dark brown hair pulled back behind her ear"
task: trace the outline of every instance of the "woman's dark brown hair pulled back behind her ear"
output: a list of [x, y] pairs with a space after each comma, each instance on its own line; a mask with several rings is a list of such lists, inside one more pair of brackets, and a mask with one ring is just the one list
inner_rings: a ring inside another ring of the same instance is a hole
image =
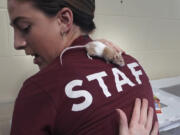
[[[68, 7], [73, 12], [73, 23], [83, 32], [90, 33], [96, 26], [93, 21], [95, 0], [18, 0], [31, 1], [33, 5], [47, 16], [55, 16], [59, 10]], [[76, 1], [76, 2], [75, 2]]]

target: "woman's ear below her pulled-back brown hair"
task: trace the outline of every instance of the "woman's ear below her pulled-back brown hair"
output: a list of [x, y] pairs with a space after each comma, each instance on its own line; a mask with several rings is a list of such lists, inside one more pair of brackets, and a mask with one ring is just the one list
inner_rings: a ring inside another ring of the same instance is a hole
[[73, 25], [73, 13], [69, 8], [61, 9], [57, 14], [58, 24], [62, 33], [68, 33]]

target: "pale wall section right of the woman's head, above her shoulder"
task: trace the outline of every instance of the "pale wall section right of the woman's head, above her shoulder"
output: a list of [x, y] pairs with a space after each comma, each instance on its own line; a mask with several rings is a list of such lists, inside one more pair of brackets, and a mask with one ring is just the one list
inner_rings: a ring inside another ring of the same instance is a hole
[[180, 75], [179, 0], [96, 0], [94, 37], [136, 57], [151, 79]]

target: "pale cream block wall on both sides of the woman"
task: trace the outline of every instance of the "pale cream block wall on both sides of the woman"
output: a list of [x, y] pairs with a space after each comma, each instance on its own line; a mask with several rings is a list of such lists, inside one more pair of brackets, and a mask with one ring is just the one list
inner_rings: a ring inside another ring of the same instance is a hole
[[[106, 38], [136, 57], [151, 79], [180, 75], [179, 0], [96, 0], [95, 38]], [[6, 0], [0, 0], [0, 102], [14, 100], [38, 71], [13, 49]]]

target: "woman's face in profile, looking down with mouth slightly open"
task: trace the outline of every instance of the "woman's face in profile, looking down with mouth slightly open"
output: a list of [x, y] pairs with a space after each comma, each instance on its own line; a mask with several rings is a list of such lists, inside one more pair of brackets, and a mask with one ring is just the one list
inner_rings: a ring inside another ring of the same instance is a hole
[[14, 28], [14, 47], [34, 56], [40, 69], [52, 62], [62, 51], [61, 26], [56, 17], [47, 17], [31, 2], [8, 0], [11, 26]]

